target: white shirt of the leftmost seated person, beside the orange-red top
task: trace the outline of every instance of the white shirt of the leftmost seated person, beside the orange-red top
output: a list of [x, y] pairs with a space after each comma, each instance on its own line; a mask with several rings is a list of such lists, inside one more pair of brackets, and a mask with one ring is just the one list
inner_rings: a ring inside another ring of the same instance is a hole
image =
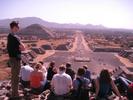
[[23, 81], [29, 81], [30, 80], [30, 74], [34, 69], [30, 67], [29, 65], [25, 65], [21, 67], [20, 70], [20, 77]]

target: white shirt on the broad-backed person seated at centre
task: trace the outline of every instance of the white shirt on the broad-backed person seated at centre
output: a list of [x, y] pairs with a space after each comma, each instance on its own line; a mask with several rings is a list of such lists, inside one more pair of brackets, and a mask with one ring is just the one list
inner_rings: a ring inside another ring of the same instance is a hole
[[65, 72], [59, 72], [53, 76], [51, 85], [54, 88], [56, 95], [63, 95], [70, 92], [70, 86], [72, 86], [71, 77]]

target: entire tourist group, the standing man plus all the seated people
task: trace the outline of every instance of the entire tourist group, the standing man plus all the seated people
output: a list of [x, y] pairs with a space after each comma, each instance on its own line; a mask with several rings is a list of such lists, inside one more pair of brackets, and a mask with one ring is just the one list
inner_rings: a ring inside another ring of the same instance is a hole
[[50, 90], [48, 100], [114, 100], [111, 99], [114, 95], [120, 100], [122, 96], [126, 96], [126, 100], [133, 100], [133, 82], [121, 76], [113, 79], [107, 69], [101, 70], [93, 79], [87, 65], [75, 72], [71, 63], [56, 66], [56, 62], [52, 61], [45, 66], [40, 61], [31, 66], [22, 62], [21, 51], [25, 50], [25, 46], [16, 35], [19, 32], [18, 23], [11, 22], [10, 28], [7, 50], [11, 62], [12, 100], [19, 97], [19, 82], [23, 88], [29, 88], [33, 95]]

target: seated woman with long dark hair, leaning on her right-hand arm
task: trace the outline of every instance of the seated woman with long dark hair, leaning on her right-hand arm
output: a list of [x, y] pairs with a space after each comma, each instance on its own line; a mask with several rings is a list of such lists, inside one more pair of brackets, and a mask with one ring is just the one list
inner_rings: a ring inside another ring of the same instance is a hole
[[100, 73], [100, 76], [95, 80], [96, 86], [96, 98], [97, 100], [108, 100], [111, 89], [116, 93], [117, 96], [121, 99], [121, 95], [111, 79], [110, 73], [107, 69], [103, 69]]

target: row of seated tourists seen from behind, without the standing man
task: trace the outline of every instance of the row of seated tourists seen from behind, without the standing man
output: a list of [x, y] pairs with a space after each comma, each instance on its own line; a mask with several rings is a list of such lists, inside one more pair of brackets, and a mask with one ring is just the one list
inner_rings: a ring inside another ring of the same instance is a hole
[[23, 87], [30, 88], [33, 94], [40, 94], [49, 89], [51, 93], [48, 100], [57, 100], [55, 98], [58, 97], [69, 98], [68, 100], [89, 100], [91, 87], [95, 87], [93, 97], [96, 100], [109, 100], [112, 91], [122, 99], [107, 69], [103, 69], [96, 79], [91, 79], [91, 72], [87, 66], [79, 68], [75, 73], [70, 63], [61, 65], [58, 69], [55, 62], [51, 62], [48, 68], [43, 62], [37, 63], [34, 68], [24, 63], [20, 70], [20, 78]]

